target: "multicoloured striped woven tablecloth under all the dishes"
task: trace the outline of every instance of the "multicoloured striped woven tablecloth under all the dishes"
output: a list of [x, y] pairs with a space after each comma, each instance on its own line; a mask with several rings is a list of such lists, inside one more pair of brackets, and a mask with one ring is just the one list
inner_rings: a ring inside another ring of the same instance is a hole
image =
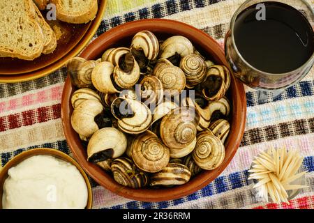
[[[191, 24], [220, 45], [234, 11], [244, 0], [108, 0], [96, 36], [114, 26], [145, 18]], [[314, 4], [314, 0], [309, 0]], [[278, 100], [248, 103], [246, 130], [234, 159], [204, 189], [174, 201], [147, 203], [119, 197], [92, 181], [94, 208], [314, 208], [314, 69]], [[63, 134], [60, 103], [66, 70], [31, 82], [0, 84], [1, 167], [14, 155], [37, 147], [70, 153]], [[256, 95], [246, 89], [248, 98]], [[286, 203], [259, 203], [248, 183], [252, 158], [269, 146], [294, 148], [304, 155], [308, 188]]]

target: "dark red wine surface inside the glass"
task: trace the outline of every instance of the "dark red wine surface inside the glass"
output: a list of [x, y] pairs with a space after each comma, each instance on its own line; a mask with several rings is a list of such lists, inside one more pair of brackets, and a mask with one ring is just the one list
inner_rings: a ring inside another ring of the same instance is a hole
[[314, 52], [311, 24], [299, 10], [285, 3], [264, 3], [266, 20], [257, 20], [256, 5], [241, 12], [234, 24], [234, 41], [254, 68], [285, 73], [302, 66]]

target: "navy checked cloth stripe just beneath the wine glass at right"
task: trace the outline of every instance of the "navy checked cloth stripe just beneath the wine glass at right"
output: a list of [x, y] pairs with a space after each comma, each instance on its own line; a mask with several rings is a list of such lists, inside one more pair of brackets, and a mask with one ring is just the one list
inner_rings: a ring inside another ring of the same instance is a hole
[[247, 106], [252, 107], [255, 105], [264, 105], [270, 102], [276, 102], [279, 100], [287, 100], [291, 98], [301, 98], [314, 95], [314, 82], [304, 81], [290, 86], [283, 91], [283, 94], [279, 98], [274, 98], [272, 93], [269, 93], [269, 99], [265, 102], [257, 101], [257, 92], [247, 92]]

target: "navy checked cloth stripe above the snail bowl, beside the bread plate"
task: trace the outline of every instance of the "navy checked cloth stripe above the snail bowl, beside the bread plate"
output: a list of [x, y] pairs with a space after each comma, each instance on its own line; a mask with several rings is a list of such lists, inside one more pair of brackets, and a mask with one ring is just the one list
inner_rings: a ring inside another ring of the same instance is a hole
[[214, 3], [218, 3], [219, 1], [225, 0], [210, 0], [210, 1], [202, 1], [202, 0], [167, 0], [162, 3], [156, 3], [150, 8], [141, 8], [140, 10], [134, 11], [132, 13], [126, 13], [122, 16], [115, 16], [112, 18], [106, 18], [103, 20], [96, 32], [96, 37], [100, 36], [105, 31], [118, 26], [119, 24], [124, 24], [126, 22], [134, 21], [134, 20], [142, 20], [147, 18], [161, 18], [167, 15], [172, 15], [174, 13], [180, 13], [186, 10], [191, 10], [193, 8], [203, 8]]

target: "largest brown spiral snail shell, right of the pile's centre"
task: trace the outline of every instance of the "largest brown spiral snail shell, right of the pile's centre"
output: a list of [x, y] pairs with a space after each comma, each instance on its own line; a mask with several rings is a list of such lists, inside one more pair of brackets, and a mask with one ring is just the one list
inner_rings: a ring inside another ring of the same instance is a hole
[[193, 107], [177, 107], [163, 117], [160, 137], [169, 148], [185, 148], [195, 140], [200, 114]]

